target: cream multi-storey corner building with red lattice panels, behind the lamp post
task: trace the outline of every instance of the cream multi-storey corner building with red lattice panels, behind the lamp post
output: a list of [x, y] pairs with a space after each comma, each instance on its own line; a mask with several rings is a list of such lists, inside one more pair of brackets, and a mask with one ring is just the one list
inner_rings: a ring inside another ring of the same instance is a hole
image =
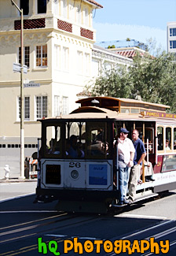
[[[24, 10], [24, 83], [39, 85], [24, 87], [27, 156], [28, 148], [36, 151], [40, 137], [37, 120], [71, 112], [76, 94], [90, 80], [96, 41], [92, 16], [102, 6], [94, 0], [14, 2]], [[20, 151], [20, 72], [13, 72], [20, 55], [20, 12], [10, 0], [0, 0], [0, 172], [5, 165], [2, 158], [12, 159]]]

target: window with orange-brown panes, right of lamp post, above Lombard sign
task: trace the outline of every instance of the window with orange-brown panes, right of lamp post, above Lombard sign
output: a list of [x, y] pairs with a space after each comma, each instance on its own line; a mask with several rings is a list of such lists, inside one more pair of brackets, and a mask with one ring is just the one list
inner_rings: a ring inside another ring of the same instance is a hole
[[36, 46], [36, 66], [37, 67], [47, 66], [47, 45]]

